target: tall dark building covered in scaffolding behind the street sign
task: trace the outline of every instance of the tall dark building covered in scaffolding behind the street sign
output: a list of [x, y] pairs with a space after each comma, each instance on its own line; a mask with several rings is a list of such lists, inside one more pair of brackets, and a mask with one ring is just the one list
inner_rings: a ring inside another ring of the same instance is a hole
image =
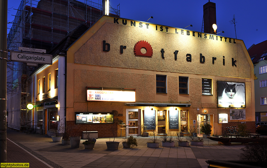
[[[39, 48], [49, 52], [81, 23], [92, 26], [103, 15], [102, 1], [89, 0], [22, 0], [7, 36], [7, 49], [17, 51], [18, 47]], [[120, 17], [120, 6], [109, 7], [109, 15]], [[8, 126], [24, 129], [36, 125], [31, 121], [29, 73], [34, 67], [27, 63], [10, 64], [7, 74]]]

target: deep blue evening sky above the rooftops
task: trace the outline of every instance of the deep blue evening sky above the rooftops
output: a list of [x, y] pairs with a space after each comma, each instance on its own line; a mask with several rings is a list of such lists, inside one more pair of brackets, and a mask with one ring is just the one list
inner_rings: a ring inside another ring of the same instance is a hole
[[[79, 0], [84, 2], [84, 0]], [[93, 2], [101, 2], [93, 0]], [[110, 5], [117, 9], [120, 3], [120, 17], [145, 22], [161, 24], [165, 26], [183, 28], [190, 24], [193, 27], [186, 29], [201, 32], [203, 21], [203, 5], [208, 0], [189, 1], [144, 1], [144, 0], [110, 0]], [[229, 21], [236, 18], [237, 39], [244, 40], [247, 48], [252, 44], [258, 44], [267, 40], [267, 14], [266, 0], [211, 0], [216, 3], [217, 32], [220, 36], [235, 38], [234, 24]], [[8, 22], [14, 20], [20, 0], [8, 0]], [[8, 25], [10, 27], [11, 24]], [[7, 30], [7, 33], [10, 29]]]

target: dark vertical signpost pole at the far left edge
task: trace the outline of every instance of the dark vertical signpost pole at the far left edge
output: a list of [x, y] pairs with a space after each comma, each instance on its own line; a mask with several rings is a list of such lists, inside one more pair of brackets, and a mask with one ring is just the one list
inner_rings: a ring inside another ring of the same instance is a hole
[[7, 0], [0, 0], [0, 153], [1, 163], [6, 163], [6, 39]]

